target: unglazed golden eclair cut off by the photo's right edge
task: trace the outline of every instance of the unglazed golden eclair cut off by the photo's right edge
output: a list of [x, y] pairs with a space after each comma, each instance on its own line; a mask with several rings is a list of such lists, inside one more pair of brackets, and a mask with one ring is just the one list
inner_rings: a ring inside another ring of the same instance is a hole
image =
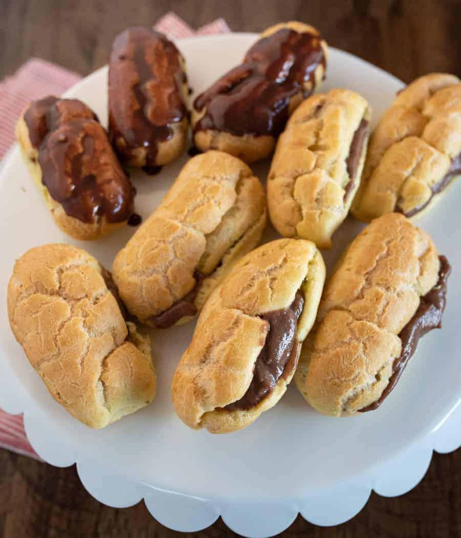
[[400, 91], [370, 138], [352, 214], [419, 213], [461, 174], [461, 81], [432, 73]]

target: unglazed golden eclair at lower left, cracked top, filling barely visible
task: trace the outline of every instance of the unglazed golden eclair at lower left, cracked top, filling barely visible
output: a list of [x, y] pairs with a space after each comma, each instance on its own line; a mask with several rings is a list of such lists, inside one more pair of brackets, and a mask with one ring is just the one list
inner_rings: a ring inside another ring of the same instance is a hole
[[150, 338], [125, 322], [114, 289], [93, 256], [62, 244], [26, 252], [8, 285], [11, 330], [29, 362], [52, 397], [91, 428], [155, 395]]

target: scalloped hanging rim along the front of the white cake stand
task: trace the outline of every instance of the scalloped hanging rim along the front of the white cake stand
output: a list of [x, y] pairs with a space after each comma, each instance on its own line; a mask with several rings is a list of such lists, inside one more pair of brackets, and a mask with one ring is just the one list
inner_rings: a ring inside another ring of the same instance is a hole
[[[37, 454], [52, 465], [76, 463], [83, 486], [103, 504], [122, 508], [144, 499], [156, 520], [180, 532], [207, 528], [221, 515], [231, 530], [248, 538], [279, 534], [291, 525], [298, 513], [318, 526], [344, 523], [361, 511], [372, 490], [384, 497], [396, 497], [412, 490], [427, 472], [432, 451], [447, 453], [461, 445], [461, 405], [458, 404], [431, 434], [352, 481], [301, 499], [225, 501], [192, 497], [114, 476], [100, 463], [81, 459], [70, 450], [62, 450], [62, 445], [59, 451], [49, 452], [46, 448], [49, 445], [40, 442], [42, 429], [35, 426], [39, 421], [33, 420], [32, 415], [25, 412], [24, 424]], [[270, 518], [268, 514], [271, 514]]]

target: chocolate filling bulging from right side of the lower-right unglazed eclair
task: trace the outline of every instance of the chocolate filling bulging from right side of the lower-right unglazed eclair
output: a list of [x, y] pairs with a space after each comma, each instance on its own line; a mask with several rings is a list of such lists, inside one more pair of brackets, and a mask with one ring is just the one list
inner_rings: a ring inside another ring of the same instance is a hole
[[451, 267], [445, 256], [439, 256], [439, 260], [440, 269], [437, 284], [421, 298], [420, 306], [415, 315], [399, 334], [402, 341], [402, 351], [400, 356], [394, 359], [389, 383], [382, 391], [380, 398], [363, 409], [359, 409], [360, 413], [377, 409], [382, 404], [399, 381], [408, 361], [416, 351], [419, 339], [430, 330], [442, 327], [442, 315], [446, 302], [446, 282], [450, 275]]

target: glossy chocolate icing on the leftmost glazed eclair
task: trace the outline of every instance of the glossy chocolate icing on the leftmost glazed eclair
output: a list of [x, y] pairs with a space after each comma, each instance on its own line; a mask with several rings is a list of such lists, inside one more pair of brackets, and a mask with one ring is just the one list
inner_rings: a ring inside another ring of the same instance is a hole
[[97, 116], [76, 99], [48, 96], [24, 114], [38, 148], [42, 183], [67, 215], [93, 223], [96, 216], [123, 222], [133, 209], [133, 188]]

